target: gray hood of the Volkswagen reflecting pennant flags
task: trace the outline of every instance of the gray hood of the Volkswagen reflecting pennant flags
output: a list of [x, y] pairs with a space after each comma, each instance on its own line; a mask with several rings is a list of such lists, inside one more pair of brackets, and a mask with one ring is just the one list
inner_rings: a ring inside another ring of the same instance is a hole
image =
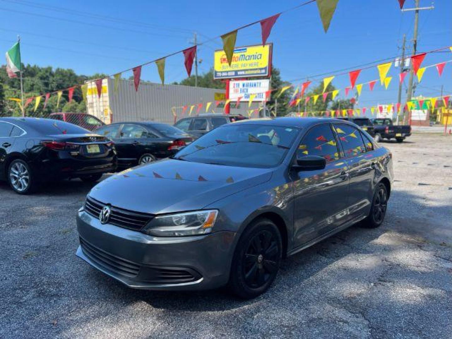
[[270, 169], [166, 159], [113, 175], [96, 185], [89, 196], [136, 212], [190, 211], [262, 184], [271, 176]]

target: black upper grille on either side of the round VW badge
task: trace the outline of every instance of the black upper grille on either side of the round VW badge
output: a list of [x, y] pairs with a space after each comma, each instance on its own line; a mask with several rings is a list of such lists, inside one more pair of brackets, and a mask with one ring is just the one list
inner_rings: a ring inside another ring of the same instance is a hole
[[[99, 213], [107, 205], [91, 197], [86, 197], [85, 211], [93, 217], [98, 218]], [[129, 230], [141, 231], [146, 224], [154, 217], [152, 214], [133, 212], [123, 208], [111, 206], [109, 224], [128, 228]]]

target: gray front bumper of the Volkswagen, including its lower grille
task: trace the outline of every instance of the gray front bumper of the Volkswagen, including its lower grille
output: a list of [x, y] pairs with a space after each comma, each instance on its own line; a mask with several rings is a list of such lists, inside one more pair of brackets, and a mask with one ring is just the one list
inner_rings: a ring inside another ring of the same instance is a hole
[[77, 256], [128, 287], [147, 290], [205, 290], [229, 279], [236, 233], [155, 237], [78, 212]]

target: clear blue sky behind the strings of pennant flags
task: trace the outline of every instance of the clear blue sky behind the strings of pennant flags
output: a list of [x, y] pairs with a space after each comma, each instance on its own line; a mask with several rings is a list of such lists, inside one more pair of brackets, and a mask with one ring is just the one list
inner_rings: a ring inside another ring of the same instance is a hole
[[[420, 1], [422, 6], [431, 4], [429, 0]], [[0, 51], [6, 52], [20, 33], [25, 63], [71, 68], [85, 75], [113, 74], [189, 47], [193, 32], [203, 42], [302, 2], [0, 0]], [[405, 8], [413, 6], [414, 0], [406, 0]], [[436, 0], [434, 6], [420, 14], [421, 52], [452, 45], [452, 1]], [[325, 34], [317, 6], [306, 5], [282, 14], [273, 27], [268, 39], [274, 43], [273, 65], [281, 70], [284, 80], [296, 83], [312, 75], [334, 74], [400, 55], [404, 33], [411, 52], [413, 22], [414, 12], [402, 13], [397, 0], [339, 0]], [[260, 41], [260, 25], [254, 25], [239, 31], [237, 46]], [[200, 72], [212, 66], [213, 51], [219, 48], [220, 38], [199, 47]], [[450, 51], [429, 54], [423, 66], [451, 59]], [[153, 64], [143, 67], [142, 79], [158, 82], [155, 68]], [[377, 85], [369, 92], [367, 86], [363, 87], [359, 106], [396, 102], [398, 70], [392, 68], [389, 75], [393, 80], [387, 90]], [[182, 55], [166, 60], [167, 83], [185, 76]], [[357, 83], [377, 77], [374, 67], [363, 71]], [[348, 86], [348, 75], [337, 76], [333, 84], [340, 89]], [[452, 94], [452, 63], [446, 65], [441, 78], [435, 68], [427, 69], [415, 94], [439, 96], [441, 85], [444, 94]], [[343, 91], [339, 96], [344, 96]]]

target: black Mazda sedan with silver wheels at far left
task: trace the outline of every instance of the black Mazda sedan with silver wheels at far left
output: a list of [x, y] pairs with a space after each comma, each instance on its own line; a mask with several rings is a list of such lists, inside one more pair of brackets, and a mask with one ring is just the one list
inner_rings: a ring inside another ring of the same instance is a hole
[[47, 181], [94, 182], [116, 169], [114, 144], [68, 122], [0, 118], [0, 179], [20, 194]]

